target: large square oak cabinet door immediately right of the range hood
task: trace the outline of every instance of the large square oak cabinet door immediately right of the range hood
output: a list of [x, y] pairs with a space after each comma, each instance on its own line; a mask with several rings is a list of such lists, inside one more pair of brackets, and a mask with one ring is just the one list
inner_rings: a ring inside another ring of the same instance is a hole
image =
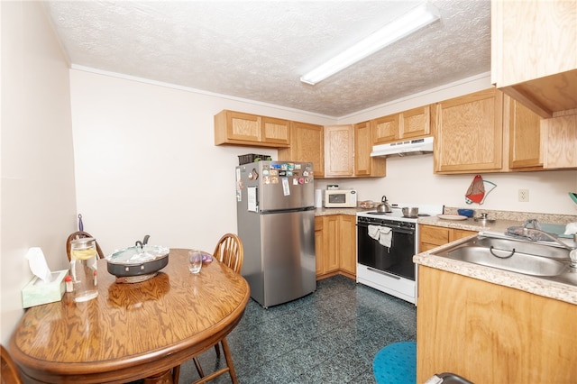
[[436, 105], [435, 173], [502, 169], [503, 97], [495, 89]]

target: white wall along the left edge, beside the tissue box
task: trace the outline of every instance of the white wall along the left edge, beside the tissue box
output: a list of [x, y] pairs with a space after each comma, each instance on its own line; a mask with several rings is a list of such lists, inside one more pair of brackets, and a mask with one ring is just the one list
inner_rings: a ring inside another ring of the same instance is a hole
[[68, 61], [39, 3], [1, 2], [1, 320], [6, 344], [32, 279], [24, 256], [41, 247], [51, 270], [67, 270], [75, 226]]

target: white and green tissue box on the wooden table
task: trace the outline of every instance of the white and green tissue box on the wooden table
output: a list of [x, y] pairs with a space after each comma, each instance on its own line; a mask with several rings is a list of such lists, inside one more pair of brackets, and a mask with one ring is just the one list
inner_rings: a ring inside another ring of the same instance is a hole
[[52, 272], [52, 281], [43, 282], [38, 276], [34, 276], [22, 289], [22, 307], [41, 306], [42, 304], [60, 301], [66, 289], [64, 278], [69, 270], [57, 270]]

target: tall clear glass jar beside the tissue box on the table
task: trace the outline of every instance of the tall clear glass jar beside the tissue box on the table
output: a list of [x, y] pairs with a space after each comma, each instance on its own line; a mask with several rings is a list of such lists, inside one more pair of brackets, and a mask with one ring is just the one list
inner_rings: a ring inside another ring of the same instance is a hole
[[70, 275], [74, 301], [87, 301], [98, 296], [96, 240], [92, 237], [70, 242]]

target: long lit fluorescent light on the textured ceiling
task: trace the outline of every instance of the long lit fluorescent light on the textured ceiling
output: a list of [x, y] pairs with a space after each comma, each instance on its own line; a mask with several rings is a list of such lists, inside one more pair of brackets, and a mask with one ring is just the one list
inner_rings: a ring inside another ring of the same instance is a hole
[[333, 59], [326, 61], [325, 64], [311, 70], [301, 77], [300, 81], [314, 86], [319, 81], [334, 75], [336, 72], [353, 65], [355, 62], [367, 56], [371, 56], [377, 50], [381, 50], [387, 45], [413, 32], [417, 32], [420, 28], [438, 19], [438, 10], [433, 5], [428, 3], [419, 5], [392, 23], [387, 24], [379, 31], [357, 42], [348, 50], [344, 50]]

